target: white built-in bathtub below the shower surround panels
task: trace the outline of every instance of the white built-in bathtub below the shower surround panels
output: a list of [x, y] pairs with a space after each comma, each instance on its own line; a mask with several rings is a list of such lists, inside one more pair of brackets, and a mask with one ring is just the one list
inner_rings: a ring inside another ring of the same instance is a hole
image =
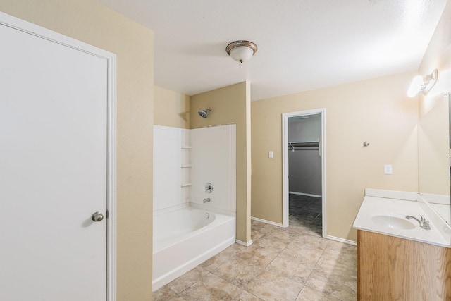
[[158, 290], [234, 242], [235, 216], [194, 207], [154, 213], [152, 290]]

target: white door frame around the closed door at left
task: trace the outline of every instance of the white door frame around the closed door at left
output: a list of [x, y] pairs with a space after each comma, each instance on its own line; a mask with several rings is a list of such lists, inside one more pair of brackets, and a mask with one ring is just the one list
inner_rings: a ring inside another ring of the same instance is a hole
[[106, 299], [116, 301], [116, 54], [47, 30], [0, 12], [0, 24], [63, 46], [106, 59], [107, 164], [106, 164]]

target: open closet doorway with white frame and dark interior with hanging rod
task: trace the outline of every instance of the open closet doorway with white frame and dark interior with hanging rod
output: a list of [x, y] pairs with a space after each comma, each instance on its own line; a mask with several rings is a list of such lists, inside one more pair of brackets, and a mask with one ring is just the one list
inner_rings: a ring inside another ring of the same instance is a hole
[[283, 226], [326, 236], [325, 109], [283, 113]]

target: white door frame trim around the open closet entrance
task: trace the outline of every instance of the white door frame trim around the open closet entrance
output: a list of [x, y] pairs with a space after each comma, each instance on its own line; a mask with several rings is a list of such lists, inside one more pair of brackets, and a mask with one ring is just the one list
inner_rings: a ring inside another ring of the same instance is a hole
[[326, 108], [312, 109], [307, 111], [296, 111], [290, 113], [282, 113], [282, 188], [283, 188], [283, 227], [288, 227], [289, 223], [289, 199], [290, 187], [288, 179], [289, 162], [288, 162], [288, 118], [298, 116], [309, 116], [321, 114], [321, 140], [319, 143], [319, 151], [321, 153], [321, 194], [322, 194], [322, 217], [323, 217], [323, 237], [326, 237]]

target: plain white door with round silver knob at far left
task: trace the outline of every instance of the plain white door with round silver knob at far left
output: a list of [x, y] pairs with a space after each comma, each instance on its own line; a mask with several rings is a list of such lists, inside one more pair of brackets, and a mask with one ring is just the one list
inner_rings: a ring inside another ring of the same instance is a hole
[[0, 300], [106, 300], [107, 60], [0, 39]]

